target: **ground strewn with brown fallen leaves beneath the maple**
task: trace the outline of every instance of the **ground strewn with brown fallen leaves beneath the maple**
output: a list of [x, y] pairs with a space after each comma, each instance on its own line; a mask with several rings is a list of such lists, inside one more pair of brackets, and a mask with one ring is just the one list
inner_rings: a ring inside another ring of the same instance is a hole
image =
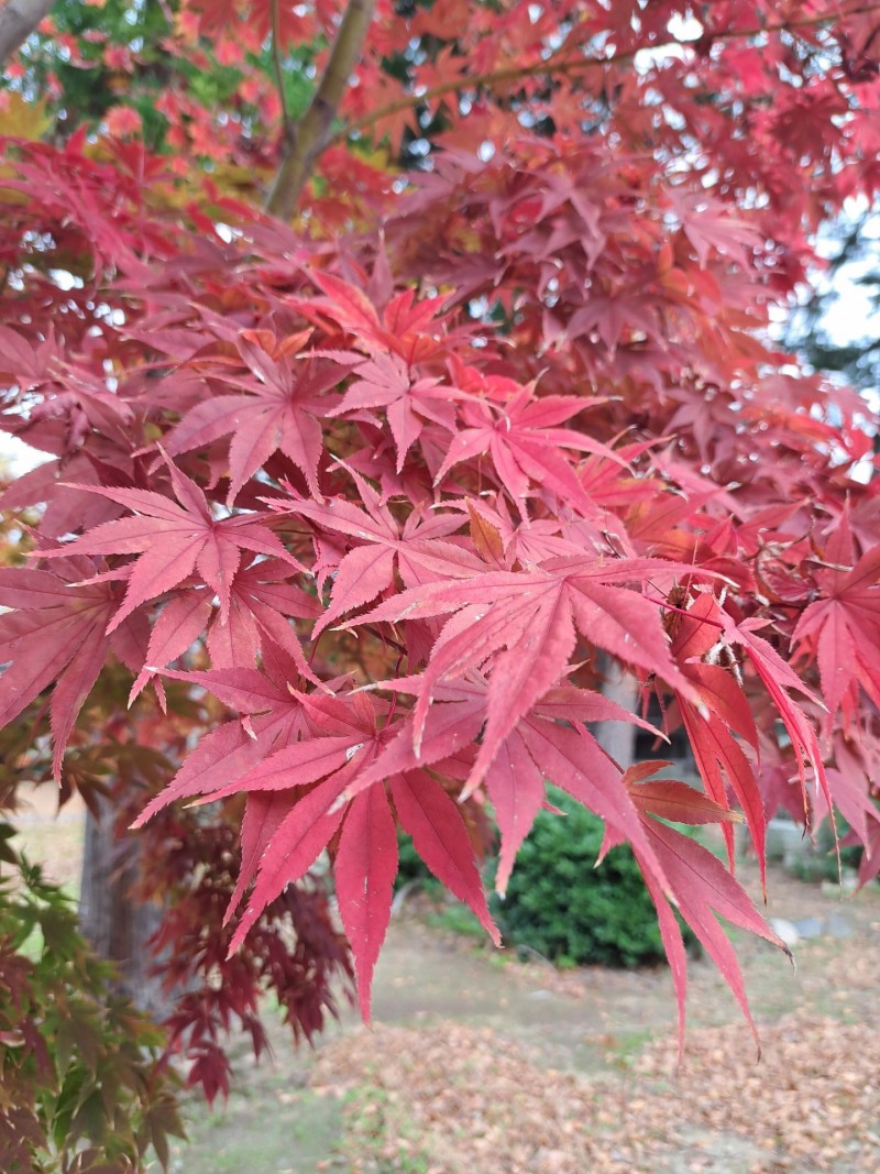
[[[76, 822], [22, 824], [70, 877]], [[740, 865], [758, 896], [757, 870]], [[235, 1044], [228, 1105], [188, 1106], [175, 1174], [771, 1174], [880, 1169], [880, 889], [770, 875], [769, 916], [821, 930], [797, 971], [736, 933], [761, 1059], [720, 976], [691, 964], [677, 1066], [669, 972], [557, 973], [404, 909], [380, 959], [374, 1026], [346, 1010], [314, 1052], [280, 1028], [256, 1066]], [[840, 936], [837, 936], [840, 935]]]

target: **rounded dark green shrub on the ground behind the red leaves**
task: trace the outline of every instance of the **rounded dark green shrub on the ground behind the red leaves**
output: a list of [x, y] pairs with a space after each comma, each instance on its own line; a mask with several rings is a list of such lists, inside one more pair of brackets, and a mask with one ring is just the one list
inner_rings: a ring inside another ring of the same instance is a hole
[[566, 817], [539, 814], [506, 898], [493, 898], [505, 939], [559, 966], [662, 962], [657, 916], [630, 849], [611, 849], [594, 868], [602, 821], [553, 788], [550, 801]]

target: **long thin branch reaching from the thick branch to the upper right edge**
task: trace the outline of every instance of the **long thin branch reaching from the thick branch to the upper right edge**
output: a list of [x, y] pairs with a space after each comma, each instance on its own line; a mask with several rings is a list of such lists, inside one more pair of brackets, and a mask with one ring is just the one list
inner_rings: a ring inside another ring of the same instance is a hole
[[438, 97], [446, 97], [449, 94], [460, 94], [462, 90], [476, 90], [483, 88], [490, 89], [493, 86], [500, 86], [509, 81], [519, 81], [520, 79], [524, 80], [527, 77], [566, 76], [568, 74], [585, 73], [589, 69], [601, 69], [605, 66], [621, 65], [632, 61], [636, 54], [643, 50], [662, 53], [664, 49], [683, 49], [688, 47], [695, 48], [700, 43], [715, 45], [719, 41], [731, 41], [738, 38], [759, 36], [761, 33], [785, 33], [796, 28], [826, 25], [834, 20], [842, 20], [847, 16], [859, 16], [866, 13], [880, 13], [880, 5], [860, 5], [857, 8], [851, 8], [842, 13], [826, 12], [823, 15], [814, 14], [812, 16], [798, 16], [792, 20], [779, 21], [774, 25], [760, 25], [754, 28], [736, 28], [729, 32], [718, 33], [712, 33], [710, 31], [704, 33], [704, 35], [696, 41], [666, 41], [663, 45], [643, 45], [637, 49], [627, 49], [622, 53], [612, 53], [607, 58], [562, 58], [556, 55], [554, 58], [548, 58], [547, 61], [540, 61], [534, 66], [508, 66], [505, 69], [495, 69], [489, 73], [479, 74], [478, 76], [462, 74], [460, 77], [453, 77], [449, 81], [438, 82], [436, 86], [431, 86], [420, 94], [408, 94], [406, 97], [398, 99], [394, 102], [388, 102], [387, 106], [383, 106], [378, 110], [365, 114], [360, 119], [356, 119], [354, 122], [350, 122], [347, 126], [343, 127], [331, 141], [344, 139], [352, 131], [363, 130], [365, 127], [371, 127], [393, 114], [400, 114], [404, 110], [413, 109], [425, 102], [432, 102]]

